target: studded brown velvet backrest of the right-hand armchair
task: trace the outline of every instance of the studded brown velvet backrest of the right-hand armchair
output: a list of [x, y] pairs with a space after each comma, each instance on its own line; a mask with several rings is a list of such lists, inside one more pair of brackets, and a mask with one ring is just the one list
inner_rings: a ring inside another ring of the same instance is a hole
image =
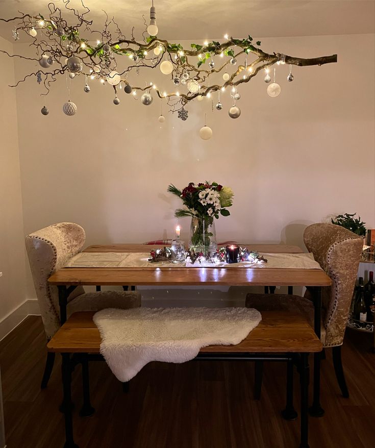
[[325, 346], [341, 345], [346, 320], [357, 279], [363, 238], [329, 223], [317, 223], [306, 228], [304, 241], [309, 252], [332, 280], [323, 288], [322, 307], [326, 311]]

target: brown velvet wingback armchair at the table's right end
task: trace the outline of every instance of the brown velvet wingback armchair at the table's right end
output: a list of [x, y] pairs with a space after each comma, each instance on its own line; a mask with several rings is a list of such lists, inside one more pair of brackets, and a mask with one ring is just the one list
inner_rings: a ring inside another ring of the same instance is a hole
[[[332, 279], [322, 291], [321, 342], [332, 347], [333, 364], [342, 395], [348, 397], [341, 361], [341, 345], [361, 259], [363, 238], [343, 227], [317, 223], [306, 228], [304, 242], [315, 260]], [[314, 307], [307, 289], [305, 297], [286, 294], [247, 294], [246, 307], [259, 311], [298, 311], [313, 327]], [[258, 385], [258, 390], [259, 385]]]

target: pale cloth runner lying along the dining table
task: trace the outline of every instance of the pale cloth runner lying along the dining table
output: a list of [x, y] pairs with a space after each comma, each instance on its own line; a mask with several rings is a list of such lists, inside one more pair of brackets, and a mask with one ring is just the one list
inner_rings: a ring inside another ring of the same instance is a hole
[[247, 268], [285, 268], [285, 269], [321, 269], [318, 262], [314, 260], [313, 254], [265, 254], [262, 253], [268, 262], [249, 262], [243, 261], [239, 263], [217, 264], [200, 264], [191, 263], [170, 263], [162, 261], [151, 263], [148, 261], [148, 252], [81, 252], [71, 258], [65, 267], [140, 267], [153, 268], [156, 267], [247, 267]]

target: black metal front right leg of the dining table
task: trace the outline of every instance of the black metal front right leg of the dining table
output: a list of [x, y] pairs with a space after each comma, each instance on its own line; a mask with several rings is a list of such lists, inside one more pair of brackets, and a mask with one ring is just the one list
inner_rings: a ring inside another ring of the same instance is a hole
[[[320, 322], [321, 322], [321, 286], [311, 288], [314, 302], [314, 331], [320, 339]], [[321, 417], [324, 415], [324, 409], [320, 406], [320, 360], [321, 353], [314, 353], [314, 392], [313, 404], [309, 409], [310, 415], [313, 417]]]

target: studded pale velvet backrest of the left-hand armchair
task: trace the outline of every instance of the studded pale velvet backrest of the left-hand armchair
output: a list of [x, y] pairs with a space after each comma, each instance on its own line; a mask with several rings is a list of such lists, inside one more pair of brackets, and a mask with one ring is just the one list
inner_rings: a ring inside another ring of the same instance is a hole
[[[85, 231], [73, 222], [60, 222], [26, 237], [26, 250], [47, 338], [60, 327], [59, 297], [56, 286], [48, 278], [78, 254], [85, 243]], [[74, 297], [84, 292], [74, 289]], [[73, 298], [70, 294], [69, 299]]]

